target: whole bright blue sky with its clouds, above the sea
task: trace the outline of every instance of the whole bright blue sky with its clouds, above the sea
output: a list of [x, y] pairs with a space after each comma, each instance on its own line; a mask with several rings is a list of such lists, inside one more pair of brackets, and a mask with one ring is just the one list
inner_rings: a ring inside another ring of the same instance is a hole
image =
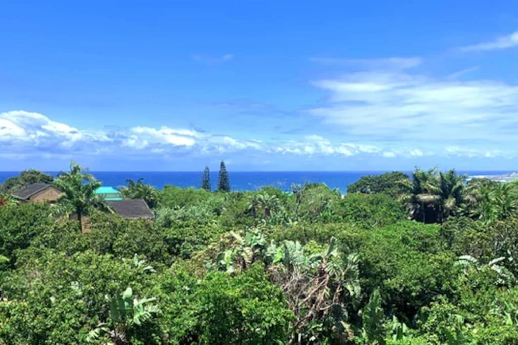
[[8, 2], [0, 170], [514, 170], [517, 10]]

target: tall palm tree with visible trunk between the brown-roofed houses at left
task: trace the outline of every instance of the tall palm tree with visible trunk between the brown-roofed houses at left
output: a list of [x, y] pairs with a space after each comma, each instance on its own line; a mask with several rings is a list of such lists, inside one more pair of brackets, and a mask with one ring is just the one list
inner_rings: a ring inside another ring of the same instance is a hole
[[72, 161], [70, 171], [61, 171], [54, 181], [55, 186], [65, 194], [62, 202], [69, 204], [77, 214], [81, 230], [83, 216], [88, 215], [92, 208], [103, 204], [103, 200], [95, 195], [100, 182], [93, 175], [84, 173], [84, 170], [86, 169]]

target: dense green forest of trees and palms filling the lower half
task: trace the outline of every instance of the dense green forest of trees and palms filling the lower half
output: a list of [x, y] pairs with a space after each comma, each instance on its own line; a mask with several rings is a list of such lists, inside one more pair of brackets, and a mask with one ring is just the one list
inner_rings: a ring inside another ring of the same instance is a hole
[[[0, 344], [518, 344], [518, 185], [415, 169], [341, 196], [229, 177], [128, 181], [154, 221], [110, 212], [74, 163], [6, 181]], [[65, 196], [9, 197], [34, 182]]]

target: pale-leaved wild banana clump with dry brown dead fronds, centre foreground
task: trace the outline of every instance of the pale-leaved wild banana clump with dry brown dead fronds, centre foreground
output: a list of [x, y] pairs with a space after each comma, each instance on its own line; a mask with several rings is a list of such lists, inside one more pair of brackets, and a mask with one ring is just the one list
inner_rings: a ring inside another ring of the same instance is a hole
[[340, 251], [334, 237], [314, 250], [292, 241], [266, 246], [259, 231], [234, 238], [236, 243], [221, 248], [208, 268], [233, 274], [257, 261], [267, 264], [270, 279], [282, 287], [295, 314], [292, 341], [352, 340], [347, 308], [356, 304], [361, 290], [355, 253]]

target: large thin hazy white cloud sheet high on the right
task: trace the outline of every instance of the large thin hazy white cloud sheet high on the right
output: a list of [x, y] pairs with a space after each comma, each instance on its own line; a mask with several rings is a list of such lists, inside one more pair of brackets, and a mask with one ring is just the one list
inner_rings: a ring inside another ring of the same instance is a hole
[[518, 143], [510, 130], [518, 127], [515, 85], [403, 72], [353, 72], [313, 85], [328, 91], [329, 97], [308, 112], [353, 140], [427, 146], [463, 140]]

